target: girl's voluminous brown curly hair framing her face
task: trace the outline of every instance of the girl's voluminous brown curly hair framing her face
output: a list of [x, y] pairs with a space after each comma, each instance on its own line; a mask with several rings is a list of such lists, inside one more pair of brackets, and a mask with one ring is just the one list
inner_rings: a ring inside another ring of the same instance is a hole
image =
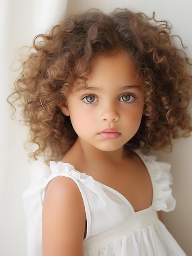
[[115, 49], [129, 53], [143, 78], [144, 115], [128, 145], [171, 149], [172, 138], [189, 135], [191, 64], [170, 30], [170, 24], [155, 20], [154, 13], [148, 18], [128, 9], [116, 9], [108, 15], [91, 9], [64, 18], [49, 34], [36, 36], [10, 96], [11, 104], [22, 102], [22, 116], [30, 127], [29, 141], [38, 145], [31, 157], [44, 154], [46, 162], [57, 160], [73, 145], [77, 135], [60, 107], [75, 81], [86, 83], [94, 56]]

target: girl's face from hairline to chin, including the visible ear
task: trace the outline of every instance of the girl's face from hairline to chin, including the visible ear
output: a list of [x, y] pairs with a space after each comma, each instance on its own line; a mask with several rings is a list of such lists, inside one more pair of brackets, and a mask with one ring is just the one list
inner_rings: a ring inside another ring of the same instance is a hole
[[62, 112], [82, 145], [115, 151], [139, 129], [143, 115], [143, 85], [124, 51], [97, 56], [87, 87], [74, 85]]

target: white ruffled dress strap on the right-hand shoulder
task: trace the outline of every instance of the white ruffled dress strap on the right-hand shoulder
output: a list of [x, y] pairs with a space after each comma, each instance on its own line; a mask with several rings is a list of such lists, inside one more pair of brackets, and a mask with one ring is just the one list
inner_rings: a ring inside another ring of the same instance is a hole
[[165, 162], [157, 162], [154, 156], [143, 155], [139, 150], [136, 153], [148, 169], [153, 188], [152, 208], [156, 211], [172, 211], [176, 200], [172, 196], [171, 165]]

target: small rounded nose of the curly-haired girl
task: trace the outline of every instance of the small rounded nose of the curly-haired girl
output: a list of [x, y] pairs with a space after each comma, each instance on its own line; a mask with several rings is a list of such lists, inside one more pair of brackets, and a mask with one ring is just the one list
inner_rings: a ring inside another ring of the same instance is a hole
[[119, 113], [117, 111], [117, 106], [115, 106], [114, 104], [102, 106], [101, 120], [108, 122], [118, 121]]

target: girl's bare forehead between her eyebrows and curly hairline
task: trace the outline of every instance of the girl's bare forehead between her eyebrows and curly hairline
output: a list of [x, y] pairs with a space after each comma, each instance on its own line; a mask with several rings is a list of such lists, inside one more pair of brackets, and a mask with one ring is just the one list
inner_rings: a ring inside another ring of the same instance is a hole
[[76, 83], [75, 90], [83, 90], [86, 87], [103, 87], [114, 83], [121, 87], [141, 85], [135, 63], [126, 51], [95, 56], [92, 62], [92, 71], [86, 76], [86, 83]]

